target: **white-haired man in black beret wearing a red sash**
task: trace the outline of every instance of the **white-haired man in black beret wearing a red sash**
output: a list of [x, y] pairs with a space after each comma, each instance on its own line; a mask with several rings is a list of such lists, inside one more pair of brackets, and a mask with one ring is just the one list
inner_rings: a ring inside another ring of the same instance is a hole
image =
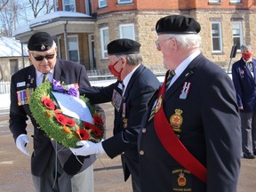
[[200, 52], [200, 29], [182, 15], [156, 23], [156, 48], [167, 73], [142, 120], [142, 192], [236, 192], [241, 156], [236, 92], [224, 70]]

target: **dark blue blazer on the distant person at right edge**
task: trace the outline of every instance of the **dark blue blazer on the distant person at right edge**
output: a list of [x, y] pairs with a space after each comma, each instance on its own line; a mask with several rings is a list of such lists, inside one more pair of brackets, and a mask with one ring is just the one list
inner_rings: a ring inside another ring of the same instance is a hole
[[256, 112], [256, 60], [252, 59], [253, 74], [246, 67], [243, 58], [232, 66], [232, 78], [236, 88], [236, 100], [241, 112]]

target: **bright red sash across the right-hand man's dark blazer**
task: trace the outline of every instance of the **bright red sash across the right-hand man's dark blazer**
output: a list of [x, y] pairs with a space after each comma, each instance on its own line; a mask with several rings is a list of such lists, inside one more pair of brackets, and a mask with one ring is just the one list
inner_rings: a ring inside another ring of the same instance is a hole
[[[165, 81], [160, 89], [160, 92], [158, 93], [158, 99], [162, 97], [164, 100], [164, 92]], [[195, 158], [195, 156], [192, 156], [190, 154], [188, 149], [185, 148], [185, 146], [180, 142], [176, 134], [173, 132], [173, 129], [169, 122], [167, 121], [166, 116], [164, 114], [163, 100], [162, 103], [158, 103], [158, 99], [157, 104], [160, 104], [160, 106], [158, 107], [159, 110], [156, 112], [154, 116], [154, 125], [157, 137], [159, 138], [159, 140], [161, 140], [165, 150], [179, 164], [181, 164], [185, 169], [187, 169], [197, 178], [206, 183], [206, 168]]]

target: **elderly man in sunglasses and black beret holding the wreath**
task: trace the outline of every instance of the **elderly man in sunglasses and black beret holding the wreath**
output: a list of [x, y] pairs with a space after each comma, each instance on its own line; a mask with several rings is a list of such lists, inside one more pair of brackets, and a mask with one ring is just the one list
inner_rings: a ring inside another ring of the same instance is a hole
[[[91, 86], [83, 65], [74, 61], [57, 59], [57, 46], [48, 33], [37, 32], [28, 41], [31, 66], [22, 68], [12, 76], [10, 130], [21, 152], [30, 156], [26, 127], [28, 116], [34, 126], [34, 151], [31, 171], [36, 192], [92, 192], [93, 162], [96, 156], [74, 156], [68, 148], [60, 146], [38, 129], [28, 106], [28, 92], [33, 92], [44, 78], [64, 84]], [[101, 110], [102, 113], [102, 110]]]

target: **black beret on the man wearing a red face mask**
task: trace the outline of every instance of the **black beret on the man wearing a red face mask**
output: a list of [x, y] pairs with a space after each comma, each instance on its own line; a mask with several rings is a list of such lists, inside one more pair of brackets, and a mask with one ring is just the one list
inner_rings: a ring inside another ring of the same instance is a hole
[[116, 39], [107, 45], [108, 55], [140, 52], [140, 44], [132, 39]]

